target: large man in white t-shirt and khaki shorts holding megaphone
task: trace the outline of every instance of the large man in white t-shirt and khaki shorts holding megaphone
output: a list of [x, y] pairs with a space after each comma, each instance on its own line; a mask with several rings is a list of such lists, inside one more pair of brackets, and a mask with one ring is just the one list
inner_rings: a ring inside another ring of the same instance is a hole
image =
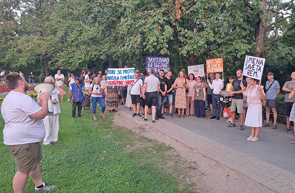
[[28, 95], [29, 89], [25, 78], [14, 72], [5, 78], [11, 91], [3, 100], [1, 114], [5, 121], [3, 129], [4, 144], [14, 156], [17, 172], [12, 185], [14, 192], [24, 192], [28, 176], [35, 184], [35, 191], [52, 190], [42, 181], [42, 148], [40, 141], [45, 137], [42, 121], [48, 112], [49, 92], [42, 93], [38, 104]]

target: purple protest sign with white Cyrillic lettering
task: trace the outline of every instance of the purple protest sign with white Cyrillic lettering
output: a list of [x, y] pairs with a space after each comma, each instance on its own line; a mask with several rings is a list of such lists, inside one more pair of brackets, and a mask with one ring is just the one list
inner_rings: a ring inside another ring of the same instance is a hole
[[151, 69], [155, 69], [156, 73], [159, 73], [161, 69], [164, 70], [165, 73], [169, 70], [169, 58], [165, 57], [147, 57], [147, 72]]

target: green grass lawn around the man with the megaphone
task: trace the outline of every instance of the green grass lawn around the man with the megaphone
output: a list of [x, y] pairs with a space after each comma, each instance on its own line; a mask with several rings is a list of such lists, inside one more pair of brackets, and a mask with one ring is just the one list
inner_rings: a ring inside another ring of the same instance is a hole
[[[60, 104], [59, 140], [63, 143], [42, 145], [43, 180], [57, 186], [51, 192], [191, 192], [163, 166], [172, 159], [173, 155], [165, 154], [171, 147], [113, 125], [112, 113], [106, 113], [107, 119], [102, 120], [100, 108], [98, 121], [93, 120], [90, 110], [83, 109], [82, 118], [71, 119], [71, 103], [65, 100]], [[6, 193], [13, 192], [16, 166], [3, 144], [4, 124], [1, 117], [0, 192]], [[29, 179], [25, 192], [33, 190]]]

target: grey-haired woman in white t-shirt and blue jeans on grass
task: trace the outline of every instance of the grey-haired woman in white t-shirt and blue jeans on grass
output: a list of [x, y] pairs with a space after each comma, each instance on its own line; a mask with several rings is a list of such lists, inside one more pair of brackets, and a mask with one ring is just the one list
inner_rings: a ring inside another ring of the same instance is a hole
[[93, 78], [93, 83], [90, 85], [88, 92], [91, 94], [91, 102], [92, 102], [92, 114], [93, 118], [96, 121], [96, 103], [99, 104], [101, 107], [101, 114], [100, 116], [103, 119], [106, 119], [104, 116], [105, 104], [104, 100], [101, 97], [103, 90], [100, 85], [100, 79], [98, 77]]

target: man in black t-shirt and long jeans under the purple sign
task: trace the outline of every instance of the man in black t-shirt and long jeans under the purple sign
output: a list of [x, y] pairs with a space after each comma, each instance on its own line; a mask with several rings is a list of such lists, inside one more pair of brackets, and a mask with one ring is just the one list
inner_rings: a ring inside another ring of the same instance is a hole
[[167, 97], [167, 90], [165, 89], [166, 78], [164, 77], [164, 70], [160, 70], [159, 73], [159, 81], [160, 81], [160, 92], [158, 93], [158, 105], [156, 112], [156, 120], [165, 119], [162, 115], [162, 107]]

